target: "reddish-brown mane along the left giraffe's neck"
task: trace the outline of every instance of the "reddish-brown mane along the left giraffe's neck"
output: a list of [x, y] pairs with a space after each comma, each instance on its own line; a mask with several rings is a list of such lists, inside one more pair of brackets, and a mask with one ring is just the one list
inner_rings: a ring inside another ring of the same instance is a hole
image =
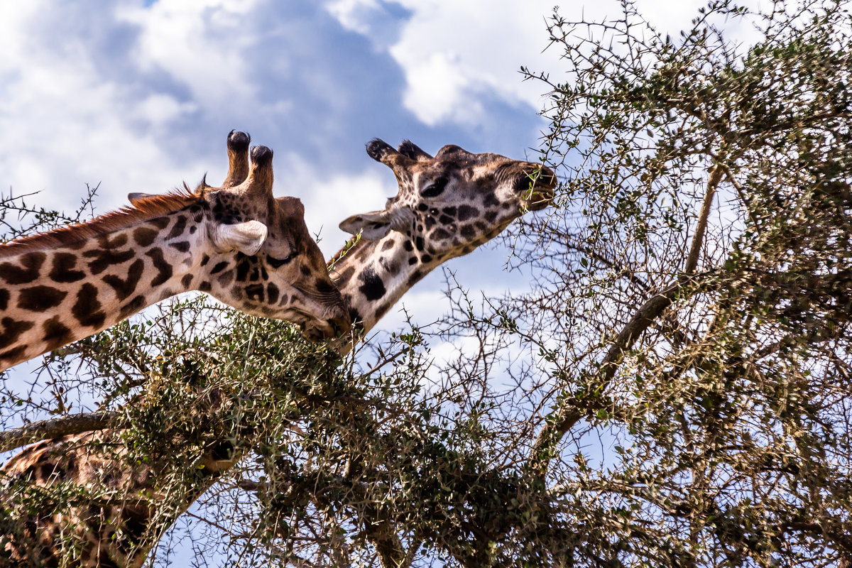
[[88, 238], [128, 227], [138, 221], [147, 221], [160, 215], [174, 213], [179, 209], [200, 202], [202, 202], [201, 195], [189, 191], [188, 188], [164, 195], [141, 198], [134, 205], [124, 206], [117, 211], [95, 217], [91, 221], [59, 227], [52, 231], [40, 232], [0, 244], [0, 258], [78, 243]]

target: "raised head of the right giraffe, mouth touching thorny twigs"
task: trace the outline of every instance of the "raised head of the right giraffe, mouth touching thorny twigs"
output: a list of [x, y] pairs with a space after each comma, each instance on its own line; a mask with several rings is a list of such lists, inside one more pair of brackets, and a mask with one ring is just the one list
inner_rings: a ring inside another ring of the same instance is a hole
[[469, 253], [527, 209], [547, 207], [556, 187], [556, 175], [541, 164], [458, 146], [444, 146], [433, 158], [410, 141], [394, 150], [374, 140], [367, 153], [394, 171], [399, 192], [383, 210], [352, 215], [340, 228], [368, 240], [400, 232], [411, 264]]

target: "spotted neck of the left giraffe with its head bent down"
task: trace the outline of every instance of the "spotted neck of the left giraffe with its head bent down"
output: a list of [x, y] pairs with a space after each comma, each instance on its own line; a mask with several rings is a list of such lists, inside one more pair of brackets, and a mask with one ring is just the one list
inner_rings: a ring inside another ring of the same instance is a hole
[[192, 290], [204, 209], [173, 197], [173, 211], [125, 210], [0, 246], [0, 370]]

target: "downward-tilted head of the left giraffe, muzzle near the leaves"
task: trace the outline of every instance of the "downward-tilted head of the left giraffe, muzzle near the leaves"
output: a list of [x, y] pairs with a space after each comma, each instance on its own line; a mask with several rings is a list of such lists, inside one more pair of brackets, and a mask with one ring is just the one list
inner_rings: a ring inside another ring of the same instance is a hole
[[[249, 143], [249, 135], [231, 132], [222, 187], [202, 181], [195, 191], [202, 205], [195, 220], [206, 235], [193, 287], [242, 312], [299, 324], [312, 341], [338, 336], [351, 321], [302, 202], [273, 197], [273, 152], [255, 146], [249, 154]], [[152, 198], [129, 197], [140, 207]]]

